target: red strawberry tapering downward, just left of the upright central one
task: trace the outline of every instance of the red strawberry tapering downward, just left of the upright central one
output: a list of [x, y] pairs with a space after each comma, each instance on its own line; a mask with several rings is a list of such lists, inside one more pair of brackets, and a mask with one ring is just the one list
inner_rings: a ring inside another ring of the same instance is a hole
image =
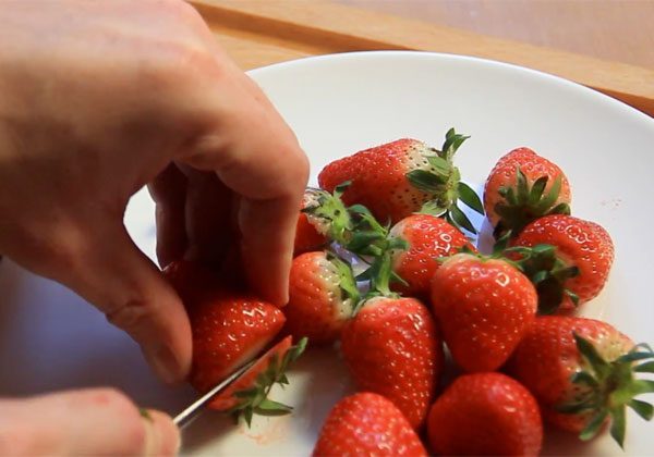
[[371, 298], [346, 323], [341, 341], [359, 390], [384, 395], [419, 428], [443, 363], [440, 337], [429, 311], [414, 298]]

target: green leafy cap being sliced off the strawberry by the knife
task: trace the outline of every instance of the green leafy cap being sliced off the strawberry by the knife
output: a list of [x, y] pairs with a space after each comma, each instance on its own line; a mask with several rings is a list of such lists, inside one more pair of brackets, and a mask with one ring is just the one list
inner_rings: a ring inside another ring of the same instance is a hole
[[266, 370], [256, 376], [254, 385], [250, 388], [235, 392], [233, 395], [239, 403], [227, 412], [231, 413], [237, 420], [243, 418], [247, 427], [252, 424], [252, 417], [257, 413], [261, 416], [282, 416], [291, 412], [292, 407], [268, 398], [270, 390], [275, 384], [288, 385], [289, 379], [286, 371], [306, 348], [307, 338], [304, 337], [296, 345], [291, 346], [283, 355], [281, 360], [274, 355], [268, 362]]

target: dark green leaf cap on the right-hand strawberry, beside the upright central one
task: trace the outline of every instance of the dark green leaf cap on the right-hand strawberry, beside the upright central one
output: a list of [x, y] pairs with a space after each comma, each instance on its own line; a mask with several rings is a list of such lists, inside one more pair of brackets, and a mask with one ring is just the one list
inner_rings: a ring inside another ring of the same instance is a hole
[[[498, 245], [508, 243], [505, 234]], [[505, 255], [518, 254], [519, 260], [514, 261], [526, 277], [534, 284], [538, 294], [538, 313], [552, 314], [556, 312], [566, 296], [574, 305], [579, 298], [566, 288], [568, 280], [579, 275], [577, 267], [569, 267], [564, 262], [552, 245], [541, 244], [534, 247], [517, 246], [504, 249]]]

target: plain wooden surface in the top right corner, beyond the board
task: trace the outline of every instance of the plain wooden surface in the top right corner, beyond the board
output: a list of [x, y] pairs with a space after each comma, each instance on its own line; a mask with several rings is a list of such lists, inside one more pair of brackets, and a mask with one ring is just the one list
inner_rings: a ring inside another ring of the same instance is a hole
[[654, 0], [334, 0], [654, 69]]

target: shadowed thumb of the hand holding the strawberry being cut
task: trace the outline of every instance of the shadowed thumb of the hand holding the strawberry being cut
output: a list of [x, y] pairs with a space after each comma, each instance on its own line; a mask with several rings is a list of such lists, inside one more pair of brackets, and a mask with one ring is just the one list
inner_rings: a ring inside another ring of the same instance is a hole
[[191, 367], [192, 341], [180, 297], [122, 224], [86, 233], [92, 239], [64, 282], [128, 332], [164, 381], [183, 380]]

